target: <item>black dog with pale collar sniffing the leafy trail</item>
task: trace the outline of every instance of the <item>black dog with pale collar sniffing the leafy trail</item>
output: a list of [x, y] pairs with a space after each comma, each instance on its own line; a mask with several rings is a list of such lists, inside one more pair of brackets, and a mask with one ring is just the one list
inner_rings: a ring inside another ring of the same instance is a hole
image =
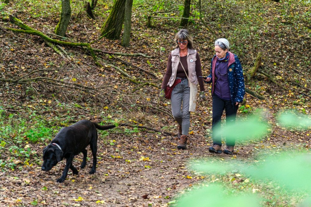
[[86, 147], [90, 144], [93, 155], [93, 166], [90, 174], [96, 172], [97, 154], [97, 129], [106, 130], [115, 127], [114, 125], [101, 126], [89, 120], [81, 120], [69, 127], [62, 128], [51, 143], [43, 149], [43, 164], [41, 169], [49, 171], [59, 161], [66, 158], [66, 166], [63, 174], [57, 182], [64, 182], [69, 168], [74, 175], [78, 174], [77, 168], [73, 167], [73, 157], [80, 152], [83, 153], [83, 161], [80, 168], [86, 165]]

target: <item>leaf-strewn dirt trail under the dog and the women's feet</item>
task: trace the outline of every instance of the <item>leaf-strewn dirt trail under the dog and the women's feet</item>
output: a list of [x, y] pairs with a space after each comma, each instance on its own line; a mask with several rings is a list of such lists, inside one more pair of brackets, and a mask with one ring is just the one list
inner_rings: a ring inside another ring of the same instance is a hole
[[[281, 128], [275, 128], [269, 140], [237, 145], [234, 156], [236, 159], [252, 160], [253, 155], [265, 147], [278, 148], [297, 142], [295, 132], [287, 131], [286, 137], [282, 137], [284, 132]], [[88, 174], [91, 160], [87, 161], [85, 169], [78, 167], [77, 176], [70, 172], [61, 184], [55, 181], [62, 173], [65, 165], [63, 161], [48, 173], [42, 172], [40, 166], [35, 165], [24, 168], [23, 171], [1, 173], [0, 206], [32, 206], [30, 203], [33, 200], [38, 201], [38, 206], [166, 206], [180, 191], [204, 181], [190, 172], [187, 167], [189, 159], [232, 159], [231, 155], [210, 154], [208, 146], [211, 140], [206, 142], [207, 138], [200, 134], [190, 136], [187, 150], [175, 150], [177, 140], [171, 137], [163, 140], [133, 138], [130, 139], [130, 144], [123, 138], [118, 139], [118, 147], [106, 147], [99, 140], [98, 157], [102, 159], [99, 160], [94, 175]], [[299, 136], [299, 139], [307, 141], [308, 137]], [[38, 150], [37, 153], [41, 152]], [[149, 158], [149, 161], [139, 160], [142, 157]], [[74, 166], [80, 166], [81, 158], [81, 155], [76, 157]], [[104, 203], [96, 204], [96, 201]]]

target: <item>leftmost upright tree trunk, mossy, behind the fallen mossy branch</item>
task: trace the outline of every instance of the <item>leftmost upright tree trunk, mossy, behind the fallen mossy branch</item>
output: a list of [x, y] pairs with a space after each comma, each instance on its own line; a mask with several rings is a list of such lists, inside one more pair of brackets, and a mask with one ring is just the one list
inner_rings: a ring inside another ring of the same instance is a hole
[[71, 18], [70, 0], [62, 0], [62, 13], [60, 14], [59, 22], [55, 28], [55, 34], [65, 36], [67, 26]]

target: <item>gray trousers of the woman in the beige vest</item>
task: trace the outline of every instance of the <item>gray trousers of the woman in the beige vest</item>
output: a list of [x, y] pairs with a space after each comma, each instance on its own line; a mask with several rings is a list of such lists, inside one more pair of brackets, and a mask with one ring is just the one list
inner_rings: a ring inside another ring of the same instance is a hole
[[[183, 135], [188, 135], [190, 127], [189, 100], [190, 88], [188, 79], [185, 79], [174, 87], [171, 95], [172, 114], [176, 122], [182, 126]], [[183, 109], [181, 109], [182, 103]]]

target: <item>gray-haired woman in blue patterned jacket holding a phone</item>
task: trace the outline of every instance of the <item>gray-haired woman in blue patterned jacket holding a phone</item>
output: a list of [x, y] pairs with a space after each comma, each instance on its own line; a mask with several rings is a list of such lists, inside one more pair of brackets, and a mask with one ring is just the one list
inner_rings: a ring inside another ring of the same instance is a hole
[[[211, 60], [211, 74], [205, 83], [212, 83], [213, 145], [208, 149], [211, 153], [221, 153], [221, 137], [214, 136], [214, 130], [220, 126], [221, 115], [226, 112], [226, 123], [235, 123], [239, 103], [243, 102], [245, 94], [244, 77], [238, 56], [229, 52], [230, 44], [227, 39], [215, 41], [216, 55]], [[225, 154], [233, 154], [235, 140], [226, 140]]]

